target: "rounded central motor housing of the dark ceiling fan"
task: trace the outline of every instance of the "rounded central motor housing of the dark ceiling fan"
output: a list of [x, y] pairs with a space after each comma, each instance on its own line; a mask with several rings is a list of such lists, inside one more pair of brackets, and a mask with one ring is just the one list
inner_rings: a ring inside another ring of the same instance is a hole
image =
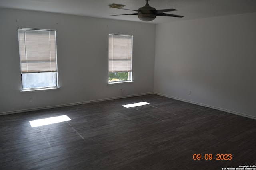
[[142, 21], [152, 21], [156, 18], [156, 8], [149, 6], [147, 3], [145, 6], [138, 9], [138, 18]]

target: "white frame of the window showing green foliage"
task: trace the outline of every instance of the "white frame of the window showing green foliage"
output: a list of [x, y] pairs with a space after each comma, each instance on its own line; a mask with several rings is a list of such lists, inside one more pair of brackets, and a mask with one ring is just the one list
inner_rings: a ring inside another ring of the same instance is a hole
[[[117, 72], [109, 72], [109, 68], [110, 68], [110, 64], [108, 64], [108, 75], [111, 73], [122, 73], [122, 72], [128, 72], [128, 80], [116, 80], [116, 81], [110, 81], [109, 80], [109, 76], [108, 76], [108, 84], [116, 84], [116, 83], [124, 83], [124, 82], [133, 82], [132, 80], [132, 61], [133, 61], [133, 35], [128, 35], [128, 34], [114, 34], [114, 33], [109, 33], [108, 34], [108, 41], [110, 41], [110, 35], [120, 35], [120, 36], [127, 36], [127, 37], [131, 37], [131, 49], [129, 51], [130, 55], [131, 55], [131, 59], [130, 59], [130, 71], [117, 71]], [[113, 37], [112, 37], [113, 38]], [[128, 46], [128, 44], [127, 44]], [[113, 48], [113, 44], [112, 44], [112, 48]], [[110, 44], [108, 43], [108, 49], [110, 49]], [[108, 50], [108, 53], [110, 53], [110, 50]], [[109, 54], [110, 55], [110, 54]], [[109, 58], [109, 56], [108, 56]], [[110, 58], [109, 58], [110, 61]]]

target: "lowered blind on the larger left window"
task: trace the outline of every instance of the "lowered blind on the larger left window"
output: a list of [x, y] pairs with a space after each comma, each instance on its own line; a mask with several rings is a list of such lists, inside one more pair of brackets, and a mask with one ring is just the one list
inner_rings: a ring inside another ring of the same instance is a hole
[[22, 73], [56, 72], [56, 31], [18, 29]]

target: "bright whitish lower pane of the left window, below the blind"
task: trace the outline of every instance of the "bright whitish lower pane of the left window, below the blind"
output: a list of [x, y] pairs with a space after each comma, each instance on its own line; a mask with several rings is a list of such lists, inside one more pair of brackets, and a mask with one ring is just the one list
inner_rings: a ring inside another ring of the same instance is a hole
[[26, 73], [22, 74], [22, 88], [57, 87], [56, 72]]

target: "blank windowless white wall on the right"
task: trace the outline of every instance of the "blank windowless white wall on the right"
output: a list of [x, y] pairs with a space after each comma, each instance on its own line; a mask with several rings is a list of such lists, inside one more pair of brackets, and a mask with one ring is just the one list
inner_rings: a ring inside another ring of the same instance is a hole
[[154, 92], [256, 118], [255, 20], [251, 13], [158, 24]]

